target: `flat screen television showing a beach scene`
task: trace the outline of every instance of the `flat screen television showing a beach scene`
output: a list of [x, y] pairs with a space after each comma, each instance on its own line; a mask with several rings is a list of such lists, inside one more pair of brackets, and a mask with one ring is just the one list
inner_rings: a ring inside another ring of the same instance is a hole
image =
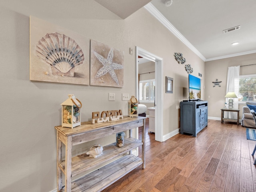
[[201, 99], [201, 79], [188, 74], [189, 99]]

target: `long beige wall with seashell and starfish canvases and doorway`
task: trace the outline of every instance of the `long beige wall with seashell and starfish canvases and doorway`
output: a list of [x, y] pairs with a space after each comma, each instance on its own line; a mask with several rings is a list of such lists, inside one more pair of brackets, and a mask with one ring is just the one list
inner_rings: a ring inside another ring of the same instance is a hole
[[[30, 15], [123, 50], [124, 87], [31, 82]], [[128, 104], [122, 101], [121, 95], [136, 93], [136, 58], [135, 54], [129, 54], [129, 48], [135, 50], [139, 46], [163, 58], [164, 134], [178, 129], [179, 103], [188, 98], [188, 74], [184, 65], [174, 59], [174, 52], [182, 52], [186, 64], [194, 68], [195, 76], [202, 73], [204, 85], [204, 62], [144, 8], [121, 20], [93, 0], [2, 0], [0, 23], [1, 192], [50, 192], [56, 189], [54, 126], [61, 124], [60, 104], [68, 94], [75, 94], [81, 100], [82, 121], [90, 119], [94, 111], [122, 109], [124, 115], [127, 114]], [[173, 94], [165, 94], [165, 76], [174, 78]], [[116, 101], [108, 101], [109, 92], [116, 94]], [[114, 142], [111, 139], [102, 138], [97, 142], [104, 145]], [[92, 144], [82, 146], [82, 151]]]

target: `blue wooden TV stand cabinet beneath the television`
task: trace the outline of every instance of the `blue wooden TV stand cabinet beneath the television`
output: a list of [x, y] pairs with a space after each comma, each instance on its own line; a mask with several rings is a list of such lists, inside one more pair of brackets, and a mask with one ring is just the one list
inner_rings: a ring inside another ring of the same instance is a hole
[[180, 102], [180, 134], [196, 134], [208, 125], [208, 101]]

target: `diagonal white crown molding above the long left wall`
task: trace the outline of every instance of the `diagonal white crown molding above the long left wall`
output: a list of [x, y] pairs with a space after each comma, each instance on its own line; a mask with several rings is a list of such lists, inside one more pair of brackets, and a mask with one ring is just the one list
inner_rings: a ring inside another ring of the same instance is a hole
[[148, 3], [144, 8], [152, 14], [160, 23], [162, 23], [170, 32], [172, 32], [181, 42], [192, 50], [203, 61], [206, 58], [160, 13], [152, 3]]

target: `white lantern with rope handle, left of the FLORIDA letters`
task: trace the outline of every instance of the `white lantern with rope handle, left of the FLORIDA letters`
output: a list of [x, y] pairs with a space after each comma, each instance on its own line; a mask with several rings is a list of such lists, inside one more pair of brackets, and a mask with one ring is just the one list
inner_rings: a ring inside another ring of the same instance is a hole
[[81, 125], [82, 103], [74, 95], [68, 95], [62, 105], [62, 127], [74, 128]]

